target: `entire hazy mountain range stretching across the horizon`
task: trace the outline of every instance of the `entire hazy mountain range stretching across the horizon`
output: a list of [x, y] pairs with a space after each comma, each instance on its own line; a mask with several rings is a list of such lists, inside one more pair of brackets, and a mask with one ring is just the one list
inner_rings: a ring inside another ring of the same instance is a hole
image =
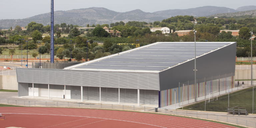
[[[255, 6], [256, 7], [256, 6]], [[55, 11], [54, 24], [73, 24], [85, 27], [86, 24], [110, 24], [119, 21], [145, 21], [154, 22], [163, 19], [177, 16], [177, 15], [190, 15], [195, 17], [201, 16], [217, 16], [217, 14], [230, 14], [239, 13], [240, 10], [254, 9], [254, 6], [239, 7], [237, 10], [216, 7], [216, 6], [203, 6], [190, 9], [173, 9], [157, 12], [143, 12], [139, 9], [128, 12], [115, 12], [106, 8], [91, 7], [85, 9], [73, 9], [69, 11]], [[215, 14], [215, 15], [214, 15]], [[223, 15], [224, 15], [223, 14]], [[242, 13], [239, 13], [240, 15]], [[255, 13], [254, 13], [255, 14]], [[25, 19], [2, 19], [0, 20], [1, 28], [10, 28], [11, 26], [19, 25], [21, 27], [27, 26], [30, 22], [42, 23], [44, 26], [50, 24], [50, 13], [40, 14]], [[14, 27], [13, 27], [14, 28]]]

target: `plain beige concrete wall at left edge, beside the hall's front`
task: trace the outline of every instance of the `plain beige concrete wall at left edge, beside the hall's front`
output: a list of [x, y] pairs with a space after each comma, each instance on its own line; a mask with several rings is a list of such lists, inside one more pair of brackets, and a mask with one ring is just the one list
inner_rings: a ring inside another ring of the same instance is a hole
[[18, 90], [17, 76], [0, 76], [0, 89]]

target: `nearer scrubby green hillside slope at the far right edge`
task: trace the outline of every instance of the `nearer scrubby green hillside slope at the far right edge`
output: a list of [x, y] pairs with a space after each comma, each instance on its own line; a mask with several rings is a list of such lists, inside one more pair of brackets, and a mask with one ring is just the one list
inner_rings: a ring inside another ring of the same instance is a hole
[[227, 17], [234, 17], [234, 16], [244, 16], [244, 15], [252, 15], [252, 17], [256, 16], [256, 10], [250, 10], [250, 11], [242, 11], [242, 12], [233, 12], [233, 13], [218, 13], [213, 14], [207, 17], [221, 17], [221, 16], [227, 16]]

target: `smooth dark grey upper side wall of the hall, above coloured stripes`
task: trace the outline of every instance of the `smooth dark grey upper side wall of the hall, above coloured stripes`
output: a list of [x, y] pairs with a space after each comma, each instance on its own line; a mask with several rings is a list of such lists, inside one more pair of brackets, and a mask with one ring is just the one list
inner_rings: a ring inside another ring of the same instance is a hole
[[[196, 77], [230, 74], [235, 72], [236, 43], [196, 58]], [[179, 82], [195, 80], [194, 59], [159, 72], [160, 91], [179, 87]], [[234, 76], [235, 74], [233, 74]]]

